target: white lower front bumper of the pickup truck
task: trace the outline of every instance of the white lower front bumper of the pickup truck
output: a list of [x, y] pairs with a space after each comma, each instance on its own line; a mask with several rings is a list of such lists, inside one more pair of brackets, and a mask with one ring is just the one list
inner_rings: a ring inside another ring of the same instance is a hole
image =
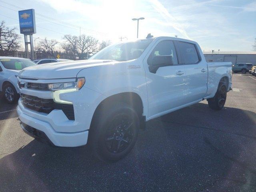
[[[25, 129], [24, 124], [30, 126], [31, 128], [35, 128], [39, 132], [42, 132], [41, 135], [45, 134], [45, 136], [43, 136], [43, 139], [48, 140], [55, 146], [76, 147], [85, 145], [87, 143], [88, 130], [80, 132], [56, 132], [56, 130], [54, 130], [54, 128], [48, 122], [43, 121], [41, 119], [39, 120], [28, 115], [34, 112], [31, 112], [29, 109], [24, 108], [20, 101], [17, 106], [17, 113], [20, 118], [20, 121], [23, 124], [21, 124], [21, 128], [30, 136], [40, 138], [37, 134], [28, 132], [28, 130]], [[70, 127], [70, 129], [72, 130], [72, 127]]]

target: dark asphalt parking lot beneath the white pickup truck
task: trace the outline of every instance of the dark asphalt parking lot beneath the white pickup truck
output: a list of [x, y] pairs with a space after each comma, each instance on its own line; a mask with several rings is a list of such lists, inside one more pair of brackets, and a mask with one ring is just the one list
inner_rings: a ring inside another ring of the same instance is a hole
[[116, 163], [87, 146], [52, 148], [22, 132], [0, 101], [0, 191], [256, 191], [256, 77], [233, 75], [225, 108], [207, 102], [147, 122]]

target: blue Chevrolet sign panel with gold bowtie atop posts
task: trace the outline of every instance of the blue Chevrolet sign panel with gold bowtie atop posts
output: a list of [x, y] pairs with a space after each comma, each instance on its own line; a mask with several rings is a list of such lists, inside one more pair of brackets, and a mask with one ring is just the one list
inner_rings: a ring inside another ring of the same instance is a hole
[[35, 10], [28, 9], [19, 11], [20, 33], [34, 34], [36, 33]]

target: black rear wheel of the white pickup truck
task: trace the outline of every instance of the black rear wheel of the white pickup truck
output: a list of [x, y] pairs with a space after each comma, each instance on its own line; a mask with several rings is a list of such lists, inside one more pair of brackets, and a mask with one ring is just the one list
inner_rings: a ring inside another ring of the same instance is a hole
[[223, 83], [220, 83], [218, 90], [213, 98], [207, 99], [208, 106], [213, 110], [221, 110], [226, 102], [227, 88]]

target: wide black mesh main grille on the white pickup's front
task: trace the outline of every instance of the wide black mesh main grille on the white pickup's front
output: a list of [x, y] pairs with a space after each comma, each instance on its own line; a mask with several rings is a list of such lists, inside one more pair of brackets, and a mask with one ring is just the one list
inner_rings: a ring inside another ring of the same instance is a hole
[[55, 103], [53, 99], [42, 99], [26, 94], [21, 94], [20, 98], [23, 106], [26, 108], [46, 114], [49, 114], [54, 109], [60, 109], [69, 120], [75, 120], [72, 104]]

